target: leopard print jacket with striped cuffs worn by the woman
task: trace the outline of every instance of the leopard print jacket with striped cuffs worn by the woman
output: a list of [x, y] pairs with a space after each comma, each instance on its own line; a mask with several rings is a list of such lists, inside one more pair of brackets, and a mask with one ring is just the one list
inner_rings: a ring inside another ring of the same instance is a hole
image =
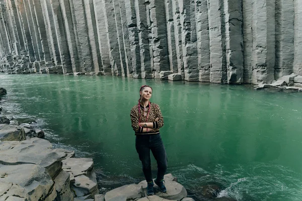
[[[149, 109], [149, 106], [146, 107]], [[140, 119], [139, 119], [140, 115]], [[156, 122], [155, 119], [159, 118], [159, 120]], [[141, 135], [141, 134], [159, 134], [160, 128], [164, 126], [164, 118], [161, 112], [161, 109], [159, 105], [155, 103], [150, 103], [150, 112], [148, 115], [148, 119], [146, 120], [146, 116], [144, 116], [143, 106], [140, 105], [140, 114], [138, 112], [138, 105], [133, 106], [130, 112], [130, 118], [131, 118], [131, 126], [135, 132], [135, 135]], [[143, 127], [139, 126], [139, 122], [153, 122], [155, 130], [148, 131], [145, 133], [142, 133]]]

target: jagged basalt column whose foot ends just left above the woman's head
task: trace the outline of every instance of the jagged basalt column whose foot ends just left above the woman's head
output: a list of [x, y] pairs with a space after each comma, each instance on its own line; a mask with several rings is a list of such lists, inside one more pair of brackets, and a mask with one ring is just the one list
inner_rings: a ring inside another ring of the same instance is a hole
[[135, 0], [125, 0], [125, 9], [127, 17], [127, 28], [129, 34], [131, 67], [129, 66], [129, 73], [132, 77], [141, 78], [140, 70], [140, 54], [139, 54], [139, 40], [138, 30], [136, 24]]

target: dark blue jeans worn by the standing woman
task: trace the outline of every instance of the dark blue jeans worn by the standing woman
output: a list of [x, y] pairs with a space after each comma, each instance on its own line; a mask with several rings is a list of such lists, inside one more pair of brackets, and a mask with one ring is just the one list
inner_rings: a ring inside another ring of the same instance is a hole
[[150, 150], [158, 164], [157, 179], [164, 179], [167, 170], [167, 155], [160, 134], [136, 135], [135, 148], [142, 164], [142, 171], [147, 182], [153, 181], [151, 172]]

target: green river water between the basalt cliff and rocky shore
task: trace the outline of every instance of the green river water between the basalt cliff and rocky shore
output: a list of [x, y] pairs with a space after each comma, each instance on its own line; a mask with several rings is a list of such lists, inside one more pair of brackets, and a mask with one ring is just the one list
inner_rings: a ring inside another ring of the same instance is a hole
[[[143, 180], [129, 112], [139, 87], [161, 107], [168, 173], [196, 200], [302, 200], [302, 92], [111, 76], [6, 75], [3, 113], [33, 118], [54, 147], [91, 157], [101, 191]], [[156, 163], [152, 161], [154, 175]]]

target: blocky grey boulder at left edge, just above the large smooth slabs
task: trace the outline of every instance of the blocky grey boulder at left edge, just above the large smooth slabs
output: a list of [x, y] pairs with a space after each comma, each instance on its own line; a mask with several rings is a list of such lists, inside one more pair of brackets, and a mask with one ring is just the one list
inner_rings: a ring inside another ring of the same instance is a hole
[[22, 141], [25, 139], [26, 136], [23, 128], [18, 129], [13, 125], [0, 124], [0, 141]]

